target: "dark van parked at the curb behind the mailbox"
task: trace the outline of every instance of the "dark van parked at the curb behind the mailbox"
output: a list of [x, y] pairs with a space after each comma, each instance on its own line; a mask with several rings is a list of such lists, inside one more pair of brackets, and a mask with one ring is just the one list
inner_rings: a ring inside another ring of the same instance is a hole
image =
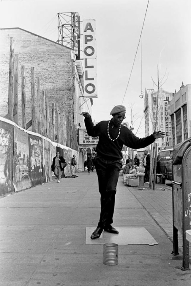
[[165, 180], [172, 181], [173, 148], [161, 150], [157, 156], [157, 172], [162, 174], [162, 184]]

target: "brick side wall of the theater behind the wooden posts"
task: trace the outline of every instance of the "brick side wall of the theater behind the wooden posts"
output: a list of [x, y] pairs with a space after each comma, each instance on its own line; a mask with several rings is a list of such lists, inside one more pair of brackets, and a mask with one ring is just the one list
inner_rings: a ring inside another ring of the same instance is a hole
[[52, 103], [58, 101], [60, 114], [64, 111], [66, 126], [70, 126], [66, 145], [77, 150], [76, 127], [79, 120], [76, 114], [83, 102], [83, 99], [79, 99], [83, 97], [83, 90], [76, 85], [77, 69], [70, 48], [20, 28], [0, 29], [0, 115], [6, 116], [8, 112], [10, 37], [14, 40], [15, 54], [19, 55], [18, 125], [21, 126], [22, 120], [21, 66], [25, 66], [26, 77], [26, 122], [31, 119], [31, 67], [34, 67], [35, 92], [37, 77], [40, 77], [40, 89], [48, 89], [50, 133]]

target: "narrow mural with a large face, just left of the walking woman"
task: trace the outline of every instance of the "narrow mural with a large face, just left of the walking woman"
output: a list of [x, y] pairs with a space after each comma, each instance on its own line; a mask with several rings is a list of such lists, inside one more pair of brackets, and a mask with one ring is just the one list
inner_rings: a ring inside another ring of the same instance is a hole
[[52, 171], [51, 171], [51, 156], [50, 156], [50, 142], [48, 140], [43, 139], [43, 178], [44, 182], [51, 182], [52, 181]]

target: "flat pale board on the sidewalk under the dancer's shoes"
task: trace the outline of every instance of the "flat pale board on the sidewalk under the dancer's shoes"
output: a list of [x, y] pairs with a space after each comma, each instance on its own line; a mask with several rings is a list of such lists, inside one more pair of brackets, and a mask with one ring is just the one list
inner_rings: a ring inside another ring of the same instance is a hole
[[103, 231], [99, 238], [91, 239], [95, 229], [96, 227], [86, 227], [86, 244], [158, 244], [144, 227], [117, 227], [119, 234]]

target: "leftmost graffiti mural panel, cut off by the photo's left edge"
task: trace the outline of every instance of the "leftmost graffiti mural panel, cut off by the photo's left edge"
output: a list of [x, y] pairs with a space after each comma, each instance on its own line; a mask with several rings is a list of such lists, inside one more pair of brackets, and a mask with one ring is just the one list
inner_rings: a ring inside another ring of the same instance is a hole
[[13, 126], [0, 121], [0, 195], [14, 192], [13, 175]]

